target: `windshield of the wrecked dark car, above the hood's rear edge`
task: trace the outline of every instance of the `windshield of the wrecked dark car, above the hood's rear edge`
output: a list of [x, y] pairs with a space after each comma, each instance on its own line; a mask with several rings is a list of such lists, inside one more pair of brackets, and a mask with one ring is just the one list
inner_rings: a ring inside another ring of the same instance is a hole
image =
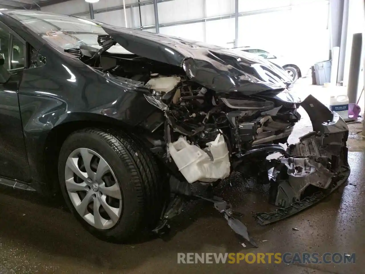
[[[7, 15], [18, 20], [50, 44], [63, 49], [78, 48], [81, 45], [97, 46], [98, 35], [107, 34], [100, 22], [80, 17], [52, 14], [39, 11], [9, 11]], [[121, 49], [118, 49], [121, 48]], [[121, 46], [114, 50], [126, 51]]]

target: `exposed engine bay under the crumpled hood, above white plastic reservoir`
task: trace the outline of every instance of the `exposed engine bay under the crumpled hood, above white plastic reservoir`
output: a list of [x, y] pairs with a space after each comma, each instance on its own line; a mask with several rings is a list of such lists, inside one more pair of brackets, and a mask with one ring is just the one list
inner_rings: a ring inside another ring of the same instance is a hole
[[300, 119], [297, 103], [268, 99], [272, 93], [217, 94], [190, 80], [180, 67], [135, 54], [109, 53], [108, 48], [81, 46], [77, 54], [81, 61], [116, 80], [130, 79], [148, 88], [146, 100], [165, 112], [173, 129], [169, 142], [183, 135], [198, 147], [205, 147], [221, 134], [230, 156], [243, 155], [252, 145], [285, 144]]

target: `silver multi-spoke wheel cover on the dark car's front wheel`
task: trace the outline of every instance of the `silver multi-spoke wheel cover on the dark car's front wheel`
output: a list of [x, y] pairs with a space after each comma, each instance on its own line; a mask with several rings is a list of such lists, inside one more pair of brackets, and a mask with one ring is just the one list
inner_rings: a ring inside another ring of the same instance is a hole
[[88, 148], [75, 149], [65, 167], [66, 189], [82, 218], [97, 229], [110, 229], [122, 214], [122, 191], [107, 161]]

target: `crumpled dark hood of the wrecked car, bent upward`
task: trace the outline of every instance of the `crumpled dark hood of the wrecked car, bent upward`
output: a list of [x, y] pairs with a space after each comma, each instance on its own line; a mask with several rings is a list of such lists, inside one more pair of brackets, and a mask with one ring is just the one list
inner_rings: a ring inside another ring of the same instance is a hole
[[254, 54], [108, 24], [101, 27], [126, 50], [180, 66], [191, 80], [216, 92], [251, 95], [292, 84], [283, 68]]

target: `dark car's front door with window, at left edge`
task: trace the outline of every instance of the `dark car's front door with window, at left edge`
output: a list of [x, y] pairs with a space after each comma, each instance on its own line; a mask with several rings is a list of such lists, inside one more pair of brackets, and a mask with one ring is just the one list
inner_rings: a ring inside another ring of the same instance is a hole
[[[18, 87], [26, 61], [26, 43], [0, 24], [0, 176], [30, 181], [30, 168], [20, 117]], [[0, 179], [1, 182], [1, 179]]]

